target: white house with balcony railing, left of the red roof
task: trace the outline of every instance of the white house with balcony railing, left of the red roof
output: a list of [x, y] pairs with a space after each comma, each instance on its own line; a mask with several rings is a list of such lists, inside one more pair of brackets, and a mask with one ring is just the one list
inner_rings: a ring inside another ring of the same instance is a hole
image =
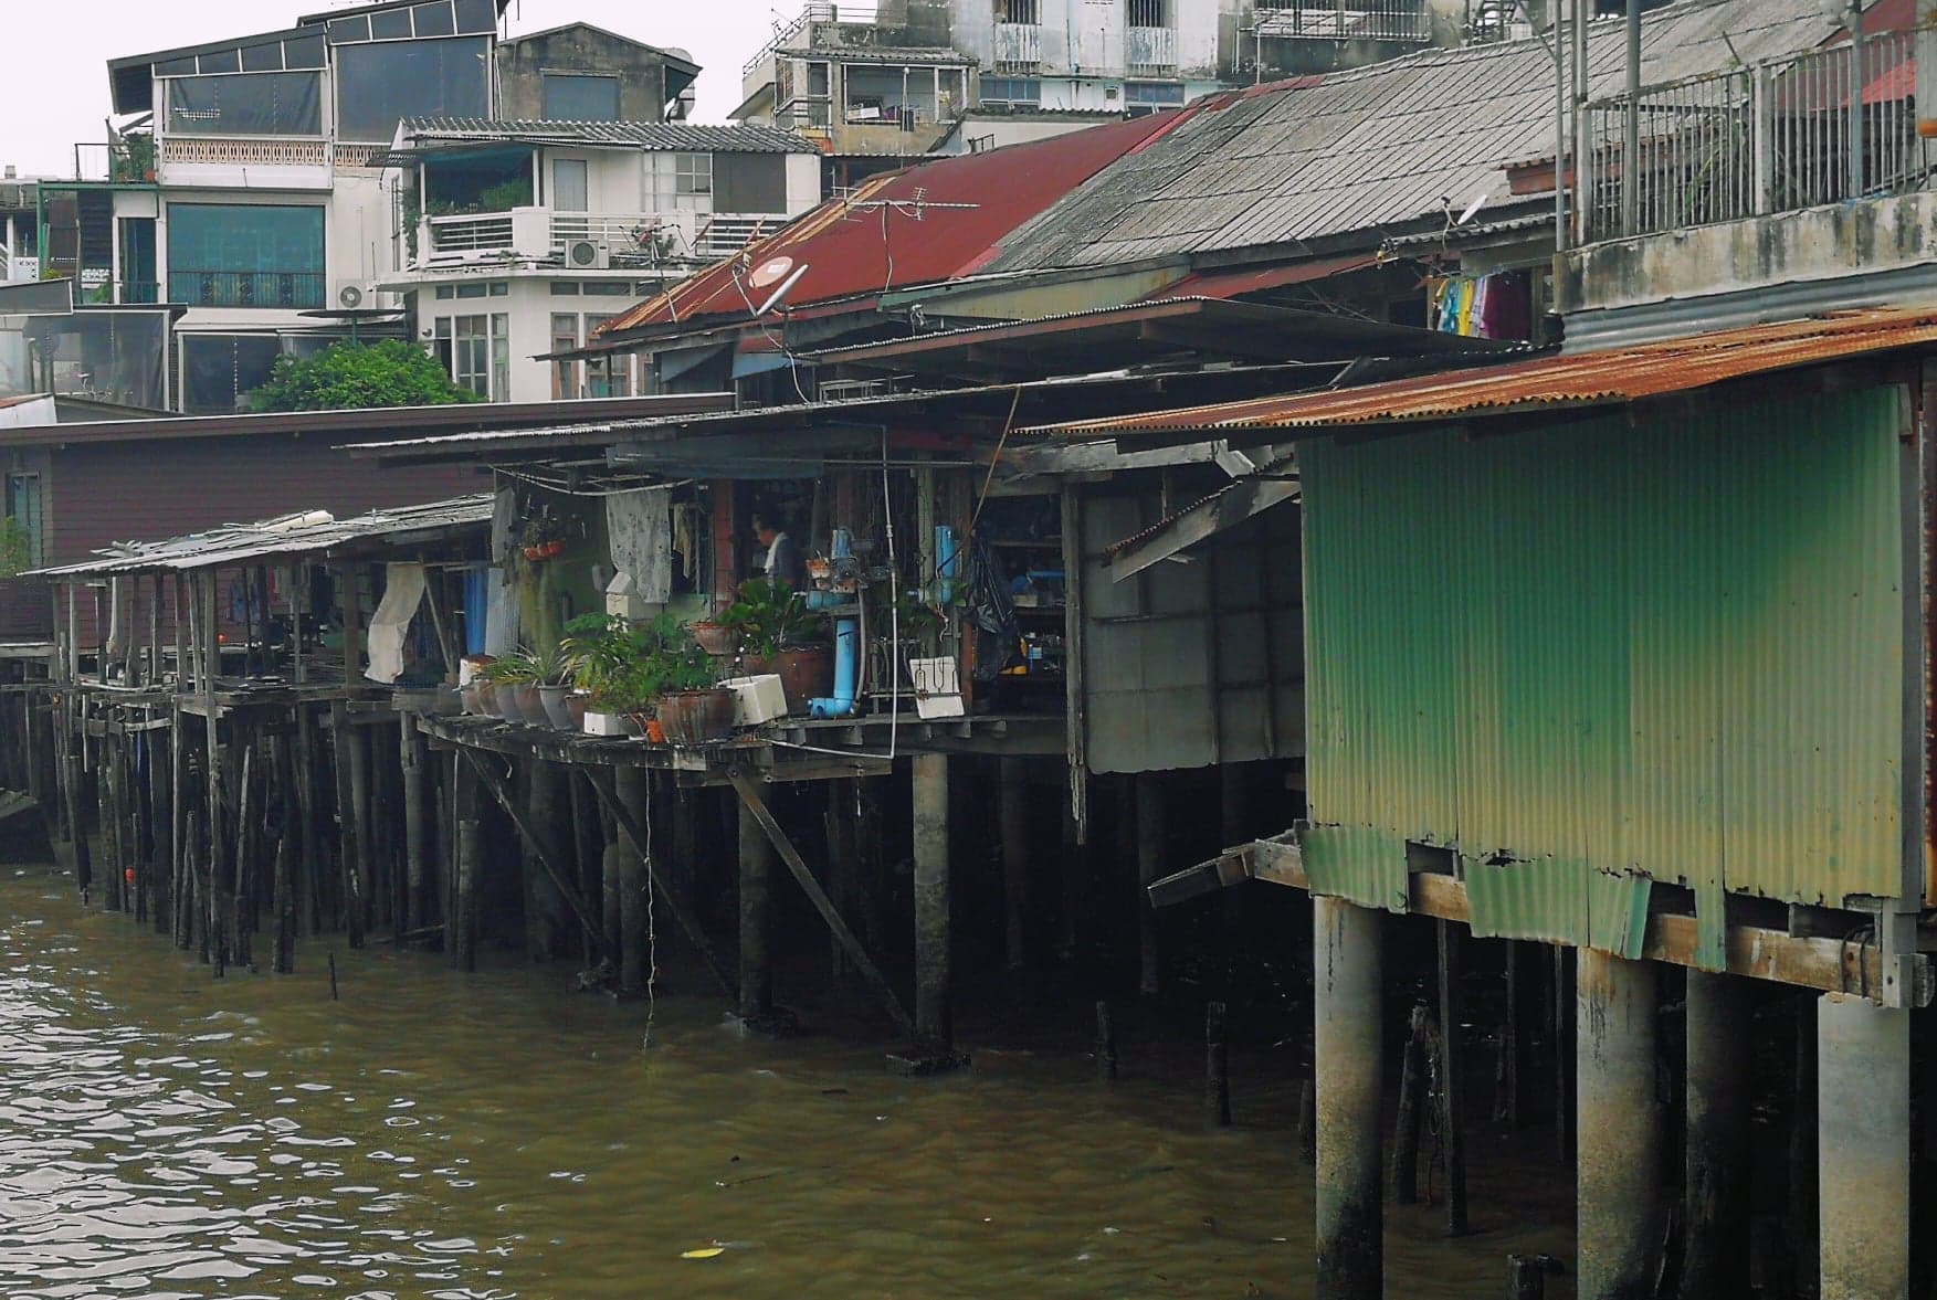
[[631, 356], [540, 360], [821, 201], [819, 153], [759, 126], [411, 118], [395, 252], [418, 337], [498, 401], [622, 397]]

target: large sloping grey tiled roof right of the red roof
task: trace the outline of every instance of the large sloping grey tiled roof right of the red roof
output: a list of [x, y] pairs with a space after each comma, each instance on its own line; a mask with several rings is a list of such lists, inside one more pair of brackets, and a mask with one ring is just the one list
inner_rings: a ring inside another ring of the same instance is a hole
[[[1687, 0], [1648, 15], [1643, 81], [1809, 48], [1819, 0]], [[1619, 19], [1590, 27], [1592, 91], [1623, 77]], [[1003, 242], [986, 271], [1298, 244], [1509, 198], [1505, 165], [1553, 155], [1553, 58], [1511, 41], [1300, 77], [1187, 112]]]

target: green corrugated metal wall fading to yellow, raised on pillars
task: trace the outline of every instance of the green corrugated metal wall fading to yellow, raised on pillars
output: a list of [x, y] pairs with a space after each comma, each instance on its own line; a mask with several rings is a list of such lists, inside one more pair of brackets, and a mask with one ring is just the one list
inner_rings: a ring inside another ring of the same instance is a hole
[[1571, 864], [1490, 868], [1495, 934], [1894, 895], [1902, 401], [1307, 444], [1311, 820]]

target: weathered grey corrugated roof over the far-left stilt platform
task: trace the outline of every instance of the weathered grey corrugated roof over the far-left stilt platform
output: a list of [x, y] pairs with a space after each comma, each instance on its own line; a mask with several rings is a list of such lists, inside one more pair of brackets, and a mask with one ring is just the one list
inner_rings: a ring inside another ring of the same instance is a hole
[[95, 560], [35, 570], [27, 577], [95, 577], [205, 570], [244, 560], [265, 560], [269, 556], [320, 554], [354, 541], [488, 527], [492, 500], [490, 492], [478, 492], [447, 502], [372, 510], [354, 519], [335, 519], [327, 510], [316, 510], [260, 519], [256, 523], [227, 523], [219, 529], [170, 537], [159, 542], [118, 542], [97, 552]]

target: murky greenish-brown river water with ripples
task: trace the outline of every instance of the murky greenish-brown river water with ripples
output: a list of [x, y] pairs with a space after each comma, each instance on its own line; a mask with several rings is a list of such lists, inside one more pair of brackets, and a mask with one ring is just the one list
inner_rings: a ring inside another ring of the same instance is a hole
[[[1184, 1050], [1125, 1042], [1098, 1087], [1075, 1050], [972, 1044], [908, 1081], [879, 1044], [748, 1040], [717, 998], [614, 1006], [521, 963], [339, 949], [331, 1002], [323, 953], [211, 980], [8, 868], [0, 1294], [1309, 1294], [1271, 1058], [1205, 1133]], [[1397, 1215], [1389, 1294], [1499, 1296], [1509, 1250], [1567, 1246], [1555, 1186], [1482, 1168], [1490, 1230], [1457, 1244]]]

